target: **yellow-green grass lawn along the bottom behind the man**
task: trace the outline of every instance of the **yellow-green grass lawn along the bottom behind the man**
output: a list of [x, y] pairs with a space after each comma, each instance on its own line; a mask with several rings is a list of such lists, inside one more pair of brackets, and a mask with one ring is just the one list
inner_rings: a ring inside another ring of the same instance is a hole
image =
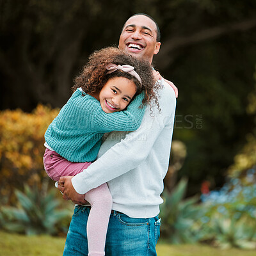
[[[64, 238], [50, 236], [20, 236], [0, 232], [1, 256], [58, 256], [62, 255]], [[157, 245], [157, 256], [255, 256], [255, 251], [219, 250], [202, 245]], [[132, 255], [131, 255], [132, 256]], [[141, 255], [143, 256], [143, 255]]]

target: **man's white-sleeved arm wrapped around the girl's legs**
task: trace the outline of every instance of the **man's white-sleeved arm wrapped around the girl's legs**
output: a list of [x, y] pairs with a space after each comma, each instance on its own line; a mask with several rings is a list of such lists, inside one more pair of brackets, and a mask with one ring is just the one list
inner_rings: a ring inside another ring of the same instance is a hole
[[[111, 147], [88, 169], [73, 177], [70, 191], [76, 190], [77, 193], [84, 194], [104, 182], [129, 172], [144, 161], [161, 131], [166, 129], [166, 125], [173, 127], [176, 99], [172, 89], [167, 86], [164, 88], [164, 92], [159, 97], [159, 104], [161, 113], [154, 107], [154, 112], [150, 115], [150, 109], [147, 108], [141, 127], [137, 131], [127, 134], [124, 140]], [[65, 191], [65, 195], [76, 200], [74, 193], [71, 195]]]

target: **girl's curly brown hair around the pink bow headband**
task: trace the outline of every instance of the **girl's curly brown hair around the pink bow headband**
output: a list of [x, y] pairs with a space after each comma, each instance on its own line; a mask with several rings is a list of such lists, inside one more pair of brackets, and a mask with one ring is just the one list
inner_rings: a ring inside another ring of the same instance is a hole
[[[136, 77], [127, 72], [123, 72], [122, 70], [116, 70], [111, 74], [106, 74], [108, 72], [106, 66], [110, 63], [116, 65], [131, 65], [140, 76], [141, 83]], [[72, 92], [76, 91], [79, 87], [86, 93], [100, 92], [108, 79], [114, 77], [126, 77], [127, 79], [132, 80], [137, 88], [137, 92], [134, 96], [140, 94], [144, 90], [145, 97], [142, 100], [142, 104], [144, 106], [150, 104], [151, 109], [151, 104], [153, 103], [153, 105], [157, 105], [157, 109], [160, 110], [156, 89], [161, 88], [161, 85], [156, 83], [152, 67], [148, 61], [138, 60], [117, 47], [106, 47], [93, 52], [89, 56], [88, 63], [83, 67], [79, 76], [75, 78]]]

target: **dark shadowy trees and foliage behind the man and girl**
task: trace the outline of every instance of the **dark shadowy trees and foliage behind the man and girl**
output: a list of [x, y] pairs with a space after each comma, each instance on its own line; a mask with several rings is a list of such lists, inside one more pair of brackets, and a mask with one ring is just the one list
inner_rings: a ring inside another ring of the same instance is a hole
[[188, 154], [178, 179], [189, 177], [189, 195], [205, 179], [220, 187], [255, 126], [255, 113], [246, 112], [255, 84], [254, 0], [1, 0], [0, 108], [61, 108], [88, 54], [117, 45], [125, 20], [141, 12], [161, 29], [155, 66], [179, 88], [173, 139]]

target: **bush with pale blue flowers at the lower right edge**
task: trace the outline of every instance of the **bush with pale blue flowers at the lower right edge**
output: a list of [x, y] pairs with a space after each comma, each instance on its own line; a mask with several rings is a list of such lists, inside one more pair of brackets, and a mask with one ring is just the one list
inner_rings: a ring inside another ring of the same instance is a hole
[[239, 179], [231, 179], [219, 191], [203, 195], [202, 201], [202, 241], [223, 248], [256, 249], [255, 184], [244, 185]]

